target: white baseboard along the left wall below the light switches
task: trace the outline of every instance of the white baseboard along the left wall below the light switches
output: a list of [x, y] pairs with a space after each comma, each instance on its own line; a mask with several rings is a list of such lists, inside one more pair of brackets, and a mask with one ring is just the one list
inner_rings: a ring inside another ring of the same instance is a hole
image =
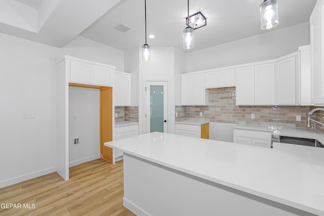
[[30, 172], [29, 174], [25, 174], [25, 175], [18, 176], [18, 177], [15, 177], [15, 178], [6, 179], [6, 180], [0, 182], [0, 188], [4, 188], [4, 187], [10, 186], [10, 185], [14, 185], [14, 184], [17, 184], [17, 183], [20, 183], [20, 182], [23, 182], [23, 181], [26, 181], [26, 180], [30, 180], [30, 179], [33, 179], [33, 178], [36, 178], [36, 177], [44, 176], [44, 175], [50, 174], [50, 173], [55, 172], [55, 171], [56, 171], [56, 167], [53, 166], [53, 167], [50, 167], [50, 168], [47, 168], [47, 169], [42, 169], [42, 170], [38, 170], [38, 171], [35, 171], [35, 172]]

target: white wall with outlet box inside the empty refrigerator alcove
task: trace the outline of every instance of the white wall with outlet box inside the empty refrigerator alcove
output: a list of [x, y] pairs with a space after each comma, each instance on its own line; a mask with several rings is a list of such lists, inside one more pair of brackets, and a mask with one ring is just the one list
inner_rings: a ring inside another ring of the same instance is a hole
[[[69, 87], [70, 166], [100, 158], [99, 111], [100, 90]], [[79, 145], [72, 145], [73, 138]]]

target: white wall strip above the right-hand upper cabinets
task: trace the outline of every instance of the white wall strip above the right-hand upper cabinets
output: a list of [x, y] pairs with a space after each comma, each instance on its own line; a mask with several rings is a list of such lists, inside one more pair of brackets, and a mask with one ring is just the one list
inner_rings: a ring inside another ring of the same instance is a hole
[[275, 59], [309, 45], [309, 38], [307, 22], [191, 52], [186, 54], [186, 72]]

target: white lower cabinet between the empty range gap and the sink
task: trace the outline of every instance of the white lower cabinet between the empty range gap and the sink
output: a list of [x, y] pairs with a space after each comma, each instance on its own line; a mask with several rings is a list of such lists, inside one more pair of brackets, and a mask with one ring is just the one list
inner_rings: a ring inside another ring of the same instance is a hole
[[272, 132], [234, 129], [233, 142], [238, 144], [271, 148]]

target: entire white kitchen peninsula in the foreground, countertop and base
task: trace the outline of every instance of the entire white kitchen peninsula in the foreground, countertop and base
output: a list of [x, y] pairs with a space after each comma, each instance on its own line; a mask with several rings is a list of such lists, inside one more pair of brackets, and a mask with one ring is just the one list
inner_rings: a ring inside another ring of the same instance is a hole
[[324, 215], [324, 153], [154, 132], [124, 151], [124, 205], [137, 215]]

